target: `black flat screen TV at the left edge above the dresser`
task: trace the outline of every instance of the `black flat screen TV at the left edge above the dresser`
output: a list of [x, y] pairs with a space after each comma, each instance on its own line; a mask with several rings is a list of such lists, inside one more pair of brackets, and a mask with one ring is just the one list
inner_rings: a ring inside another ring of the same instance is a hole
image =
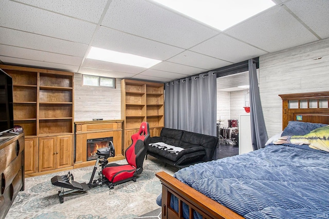
[[14, 126], [12, 78], [0, 69], [0, 132]]

